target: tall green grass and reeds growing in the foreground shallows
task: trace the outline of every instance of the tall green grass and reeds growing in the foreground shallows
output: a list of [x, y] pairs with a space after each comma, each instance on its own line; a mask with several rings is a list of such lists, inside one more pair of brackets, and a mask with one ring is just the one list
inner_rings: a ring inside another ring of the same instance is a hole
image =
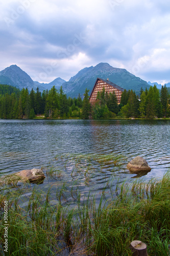
[[[96, 194], [91, 190], [91, 171], [96, 165], [98, 168], [109, 165], [121, 168], [125, 159], [111, 155], [72, 156], [71, 159], [67, 157], [65, 161], [63, 156], [61, 159], [56, 156], [59, 163], [63, 161], [63, 169], [66, 165], [77, 169], [77, 172], [71, 173], [69, 182], [62, 180], [61, 169], [53, 166], [46, 169], [46, 178], [50, 182], [52, 178], [59, 180], [59, 187], [52, 183], [46, 192], [42, 185], [31, 186], [28, 183], [0, 188], [1, 255], [5, 255], [4, 201], [8, 202], [10, 256], [129, 256], [132, 255], [130, 243], [133, 240], [147, 244], [150, 256], [169, 255], [169, 171], [161, 180], [117, 182], [114, 189], [107, 182], [100, 190], [97, 201]], [[87, 169], [83, 163], [86, 163]], [[83, 190], [80, 189], [80, 175], [84, 176]]]

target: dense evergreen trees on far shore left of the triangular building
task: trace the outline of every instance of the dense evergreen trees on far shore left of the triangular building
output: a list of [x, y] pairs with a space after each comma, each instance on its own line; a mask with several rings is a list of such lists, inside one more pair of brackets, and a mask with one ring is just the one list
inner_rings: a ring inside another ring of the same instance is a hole
[[[9, 86], [4, 87], [6, 91]], [[11, 89], [12, 90], [12, 89]], [[4, 119], [32, 119], [35, 115], [43, 114], [45, 118], [69, 118], [81, 117], [83, 102], [79, 95], [76, 99], [66, 97], [62, 87], [58, 92], [55, 87], [51, 90], [44, 90], [41, 94], [37, 88], [36, 92], [32, 89], [22, 89], [17, 92], [7, 92], [0, 95], [0, 118]]]

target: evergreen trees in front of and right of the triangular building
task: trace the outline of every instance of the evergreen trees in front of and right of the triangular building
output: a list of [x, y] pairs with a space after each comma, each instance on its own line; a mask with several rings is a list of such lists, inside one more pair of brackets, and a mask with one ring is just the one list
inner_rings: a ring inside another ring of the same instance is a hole
[[162, 118], [170, 117], [169, 94], [166, 86], [162, 86], [160, 93], [154, 87], [140, 90], [136, 95], [132, 90], [122, 93], [120, 104], [117, 104], [115, 93], [98, 92], [95, 103], [92, 105], [91, 116], [94, 119], [109, 117], [134, 118]]

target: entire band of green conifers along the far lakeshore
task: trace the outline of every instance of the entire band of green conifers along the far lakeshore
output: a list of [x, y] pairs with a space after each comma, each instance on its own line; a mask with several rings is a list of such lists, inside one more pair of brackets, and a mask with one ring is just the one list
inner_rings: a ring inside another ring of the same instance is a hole
[[93, 105], [89, 102], [89, 90], [85, 90], [84, 98], [70, 98], [64, 94], [62, 87], [56, 90], [37, 88], [21, 91], [15, 87], [0, 84], [0, 118], [1, 119], [33, 119], [36, 115], [44, 118], [163, 118], [170, 117], [169, 94], [166, 86], [160, 92], [154, 87], [141, 89], [139, 96], [132, 90], [122, 93], [120, 104], [117, 104], [115, 93], [108, 94], [105, 89], [98, 92]]

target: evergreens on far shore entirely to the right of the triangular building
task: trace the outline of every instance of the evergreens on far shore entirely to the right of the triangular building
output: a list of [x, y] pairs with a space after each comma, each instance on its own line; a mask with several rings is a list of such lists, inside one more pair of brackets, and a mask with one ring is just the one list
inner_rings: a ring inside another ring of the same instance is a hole
[[139, 97], [132, 90], [128, 92], [125, 90], [120, 101], [122, 104], [120, 115], [127, 118], [147, 119], [170, 117], [169, 103], [166, 85], [162, 86], [160, 93], [156, 86], [145, 91], [141, 89]]

